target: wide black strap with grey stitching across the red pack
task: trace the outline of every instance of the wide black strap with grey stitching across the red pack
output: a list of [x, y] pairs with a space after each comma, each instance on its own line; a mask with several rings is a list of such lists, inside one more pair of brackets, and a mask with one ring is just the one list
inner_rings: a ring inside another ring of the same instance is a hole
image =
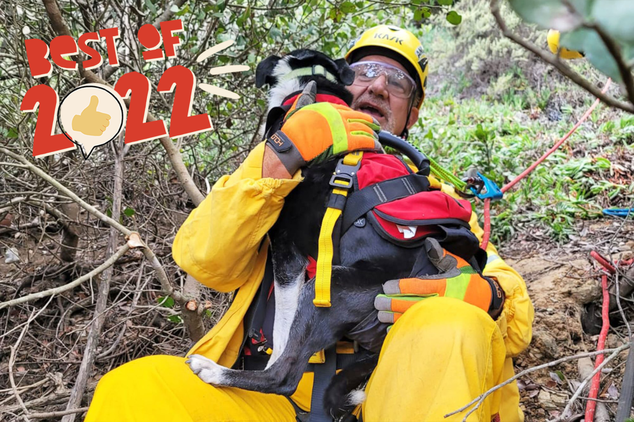
[[346, 233], [354, 221], [377, 205], [427, 190], [429, 190], [429, 179], [427, 176], [417, 173], [384, 180], [357, 190], [346, 201], [346, 212], [343, 216], [341, 232]]

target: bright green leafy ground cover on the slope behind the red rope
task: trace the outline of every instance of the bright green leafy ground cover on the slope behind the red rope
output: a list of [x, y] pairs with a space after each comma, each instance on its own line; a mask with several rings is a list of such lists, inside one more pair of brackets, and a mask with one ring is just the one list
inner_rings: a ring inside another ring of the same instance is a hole
[[[456, 175], [474, 166], [501, 187], [547, 151], [576, 120], [567, 116], [545, 125], [540, 109], [534, 111], [533, 120], [531, 109], [521, 108], [521, 103], [486, 97], [431, 98], [425, 102], [413, 139]], [[579, 128], [559, 151], [495, 203], [493, 239], [508, 239], [526, 228], [521, 223], [538, 222], [555, 239], [565, 240], [576, 218], [596, 218], [602, 208], [619, 202], [626, 206], [634, 199], [631, 180], [629, 184], [613, 181], [615, 168], [621, 164], [611, 161], [624, 152], [630, 157], [634, 154], [634, 118], [609, 120], [610, 113], [601, 107], [594, 113], [596, 123]], [[481, 211], [481, 203], [478, 206]]]

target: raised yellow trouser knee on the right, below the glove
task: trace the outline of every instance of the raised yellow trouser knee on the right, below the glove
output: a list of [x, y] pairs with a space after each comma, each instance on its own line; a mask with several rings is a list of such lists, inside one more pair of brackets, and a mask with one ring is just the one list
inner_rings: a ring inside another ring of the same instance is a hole
[[[385, 338], [366, 388], [363, 420], [462, 421], [465, 413], [444, 415], [508, 378], [503, 378], [505, 354], [500, 329], [481, 309], [446, 297], [420, 301]], [[512, 365], [509, 369], [512, 375]], [[491, 421], [500, 412], [500, 399], [501, 389], [467, 420]], [[509, 399], [514, 401], [505, 397], [507, 404]], [[501, 420], [521, 420], [518, 404], [507, 406], [509, 415]]]

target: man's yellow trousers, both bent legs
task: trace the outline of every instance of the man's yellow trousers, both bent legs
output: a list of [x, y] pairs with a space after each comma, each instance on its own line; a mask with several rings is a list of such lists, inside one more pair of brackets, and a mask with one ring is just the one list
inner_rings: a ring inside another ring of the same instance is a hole
[[[295, 421], [285, 397], [213, 387], [184, 361], [148, 356], [113, 369], [98, 383], [86, 421]], [[408, 309], [385, 338], [366, 388], [363, 420], [461, 421], [464, 413], [443, 416], [502, 382], [504, 369], [502, 336], [488, 314], [456, 299], [426, 299]], [[520, 421], [517, 387], [510, 387], [489, 395], [468, 420], [491, 421], [503, 400], [512, 416], [501, 420]]]

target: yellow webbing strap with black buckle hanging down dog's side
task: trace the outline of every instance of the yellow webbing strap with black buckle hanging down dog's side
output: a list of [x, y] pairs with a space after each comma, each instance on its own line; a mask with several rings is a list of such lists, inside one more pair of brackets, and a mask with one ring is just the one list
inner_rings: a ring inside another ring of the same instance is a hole
[[[334, 246], [332, 242], [332, 232], [337, 224], [337, 220], [346, 206], [348, 190], [352, 187], [353, 174], [342, 173], [341, 170], [358, 166], [363, 157], [363, 151], [354, 151], [346, 154], [337, 164], [335, 174], [330, 184], [335, 186], [328, 200], [328, 208], [321, 220], [321, 229], [318, 240], [317, 271], [315, 273], [315, 298], [314, 306], [330, 307], [330, 278], [332, 276], [332, 258]], [[350, 170], [346, 170], [350, 171]], [[345, 176], [345, 177], [344, 177]]]

